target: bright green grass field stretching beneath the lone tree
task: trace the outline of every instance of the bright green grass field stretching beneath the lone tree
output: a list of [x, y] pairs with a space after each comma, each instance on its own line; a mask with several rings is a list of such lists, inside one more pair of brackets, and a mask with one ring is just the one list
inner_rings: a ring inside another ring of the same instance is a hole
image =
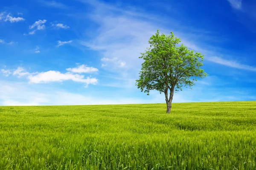
[[0, 169], [255, 170], [256, 102], [0, 107]]

